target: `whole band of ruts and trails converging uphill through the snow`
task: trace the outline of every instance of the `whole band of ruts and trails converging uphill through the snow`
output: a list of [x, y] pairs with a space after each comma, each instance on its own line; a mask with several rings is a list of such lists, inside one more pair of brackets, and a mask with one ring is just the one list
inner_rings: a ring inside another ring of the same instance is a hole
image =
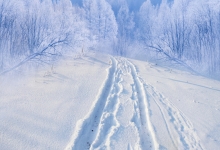
[[[203, 149], [189, 119], [153, 86], [146, 84], [131, 61], [121, 57], [112, 57], [111, 60], [112, 65], [97, 101], [85, 119], [77, 122], [66, 150], [116, 149], [113, 141], [117, 143], [122, 130], [126, 128], [132, 129], [137, 136], [135, 144], [126, 141], [128, 150], [163, 149], [157, 140], [159, 133], [155, 132], [151, 122], [151, 114], [154, 113], [150, 109], [151, 102], [155, 102], [159, 108], [162, 122], [175, 149]], [[125, 84], [126, 79], [130, 81], [127, 81], [129, 86]], [[130, 97], [127, 98], [125, 91]], [[129, 123], [124, 125], [120, 120], [120, 111], [125, 109], [126, 104], [133, 107], [133, 111], [130, 110]], [[178, 139], [175, 135], [178, 135]]]

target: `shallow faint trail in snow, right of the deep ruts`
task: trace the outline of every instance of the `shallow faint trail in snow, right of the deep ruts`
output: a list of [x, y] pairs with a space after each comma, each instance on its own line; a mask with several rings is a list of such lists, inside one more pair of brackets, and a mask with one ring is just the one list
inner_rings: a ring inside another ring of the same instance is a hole
[[[143, 80], [142, 82], [144, 83]], [[189, 119], [187, 119], [187, 117], [168, 99], [157, 92], [153, 86], [144, 83], [144, 88], [148, 97], [152, 98], [158, 106], [168, 134], [176, 149], [203, 149], [200, 139]], [[179, 136], [178, 142], [172, 135], [172, 129], [174, 129]]]

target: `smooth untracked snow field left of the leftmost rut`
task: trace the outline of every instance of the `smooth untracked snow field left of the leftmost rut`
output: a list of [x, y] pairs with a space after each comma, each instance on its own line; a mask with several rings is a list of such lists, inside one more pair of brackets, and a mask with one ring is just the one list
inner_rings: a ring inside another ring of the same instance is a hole
[[88, 55], [65, 56], [54, 64], [54, 73], [46, 66], [25, 76], [0, 77], [1, 150], [65, 149], [109, 66], [108, 56]]

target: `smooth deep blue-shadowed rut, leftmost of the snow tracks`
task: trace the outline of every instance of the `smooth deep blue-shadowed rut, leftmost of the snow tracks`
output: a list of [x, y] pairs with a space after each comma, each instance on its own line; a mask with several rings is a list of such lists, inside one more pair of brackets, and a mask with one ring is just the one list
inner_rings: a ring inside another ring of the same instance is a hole
[[67, 145], [66, 150], [90, 149], [98, 133], [100, 119], [108, 96], [113, 88], [113, 83], [115, 82], [117, 61], [114, 58], [111, 58], [111, 60], [112, 66], [109, 68], [107, 79], [100, 89], [98, 99], [85, 119], [77, 122], [75, 133], [70, 143]]

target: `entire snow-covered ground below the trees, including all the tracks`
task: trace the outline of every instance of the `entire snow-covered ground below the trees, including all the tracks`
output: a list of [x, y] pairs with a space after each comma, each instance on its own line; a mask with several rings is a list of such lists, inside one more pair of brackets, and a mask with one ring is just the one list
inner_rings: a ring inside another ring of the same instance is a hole
[[220, 149], [220, 82], [88, 53], [0, 76], [0, 149]]

